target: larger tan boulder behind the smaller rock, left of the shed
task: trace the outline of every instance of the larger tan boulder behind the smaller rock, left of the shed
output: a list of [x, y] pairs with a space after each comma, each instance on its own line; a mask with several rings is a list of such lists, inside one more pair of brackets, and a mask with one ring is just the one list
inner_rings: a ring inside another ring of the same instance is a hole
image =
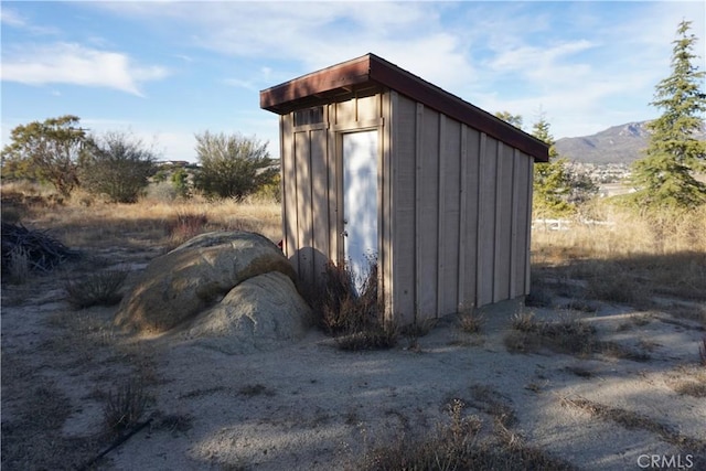
[[296, 279], [287, 257], [265, 236], [202, 234], [150, 263], [125, 297], [115, 323], [140, 332], [165, 332], [218, 304], [243, 281], [272, 271]]

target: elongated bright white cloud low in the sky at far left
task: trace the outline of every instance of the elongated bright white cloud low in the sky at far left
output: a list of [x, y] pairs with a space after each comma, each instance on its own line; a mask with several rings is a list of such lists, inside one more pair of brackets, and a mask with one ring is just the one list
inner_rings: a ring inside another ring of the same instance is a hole
[[29, 85], [74, 84], [142, 96], [140, 84], [164, 78], [161, 66], [137, 66], [122, 53], [74, 43], [24, 45], [2, 58], [1, 78]]

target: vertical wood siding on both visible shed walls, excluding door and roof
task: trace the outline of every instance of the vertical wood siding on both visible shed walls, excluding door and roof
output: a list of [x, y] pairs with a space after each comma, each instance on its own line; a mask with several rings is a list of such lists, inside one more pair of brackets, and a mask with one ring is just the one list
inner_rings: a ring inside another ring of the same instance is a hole
[[394, 90], [280, 119], [285, 250], [304, 285], [341, 261], [341, 135], [377, 127], [378, 268], [402, 323], [526, 295], [532, 158]]

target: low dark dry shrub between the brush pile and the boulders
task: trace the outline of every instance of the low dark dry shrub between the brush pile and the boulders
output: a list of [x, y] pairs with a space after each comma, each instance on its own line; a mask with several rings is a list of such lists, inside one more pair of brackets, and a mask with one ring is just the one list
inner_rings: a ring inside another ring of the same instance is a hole
[[92, 306], [114, 306], [120, 302], [119, 292], [127, 270], [106, 270], [93, 274], [82, 280], [66, 280], [66, 300], [74, 309], [85, 309]]

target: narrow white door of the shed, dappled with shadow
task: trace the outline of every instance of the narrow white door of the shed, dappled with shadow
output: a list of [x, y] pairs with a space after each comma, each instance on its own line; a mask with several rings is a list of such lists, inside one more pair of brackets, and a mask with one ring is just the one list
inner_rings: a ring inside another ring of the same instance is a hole
[[360, 290], [377, 258], [377, 130], [343, 135], [343, 225], [345, 258]]

